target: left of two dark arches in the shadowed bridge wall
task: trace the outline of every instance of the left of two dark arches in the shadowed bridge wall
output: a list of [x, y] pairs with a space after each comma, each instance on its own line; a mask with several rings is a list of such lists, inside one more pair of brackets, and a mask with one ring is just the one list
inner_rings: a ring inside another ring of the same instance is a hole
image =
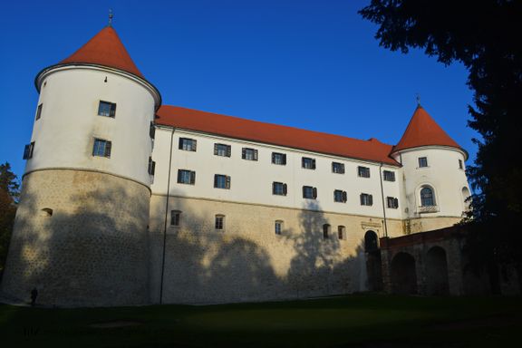
[[415, 258], [408, 253], [398, 253], [391, 260], [391, 292], [417, 294]]

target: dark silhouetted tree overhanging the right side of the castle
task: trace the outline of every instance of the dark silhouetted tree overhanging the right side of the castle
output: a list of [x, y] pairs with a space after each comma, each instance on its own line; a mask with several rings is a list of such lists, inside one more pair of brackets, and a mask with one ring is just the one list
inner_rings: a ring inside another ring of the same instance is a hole
[[468, 169], [476, 191], [468, 224], [472, 265], [515, 266], [522, 279], [522, 2], [372, 0], [359, 13], [380, 25], [375, 38], [383, 47], [422, 49], [468, 69], [475, 104], [469, 127], [480, 135]]

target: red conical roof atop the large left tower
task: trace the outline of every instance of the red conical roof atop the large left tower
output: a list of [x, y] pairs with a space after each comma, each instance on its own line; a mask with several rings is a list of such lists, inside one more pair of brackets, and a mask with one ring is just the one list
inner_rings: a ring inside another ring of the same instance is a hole
[[111, 26], [107, 26], [63, 63], [92, 63], [120, 69], [144, 79]]

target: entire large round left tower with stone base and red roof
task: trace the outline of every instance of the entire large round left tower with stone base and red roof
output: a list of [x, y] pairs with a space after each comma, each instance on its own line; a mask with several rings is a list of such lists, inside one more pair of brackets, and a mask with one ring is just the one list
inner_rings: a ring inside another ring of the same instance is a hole
[[148, 301], [160, 93], [109, 26], [36, 76], [40, 92], [2, 290], [38, 302]]

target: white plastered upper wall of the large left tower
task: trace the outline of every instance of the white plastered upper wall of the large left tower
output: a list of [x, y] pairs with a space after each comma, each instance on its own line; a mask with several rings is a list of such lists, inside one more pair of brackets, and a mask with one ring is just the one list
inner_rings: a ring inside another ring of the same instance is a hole
[[[115, 118], [98, 115], [100, 101], [117, 104]], [[62, 67], [43, 76], [41, 103], [25, 172], [95, 169], [150, 185], [154, 98], [143, 83], [101, 68]], [[110, 159], [92, 156], [94, 138], [111, 140]]]

